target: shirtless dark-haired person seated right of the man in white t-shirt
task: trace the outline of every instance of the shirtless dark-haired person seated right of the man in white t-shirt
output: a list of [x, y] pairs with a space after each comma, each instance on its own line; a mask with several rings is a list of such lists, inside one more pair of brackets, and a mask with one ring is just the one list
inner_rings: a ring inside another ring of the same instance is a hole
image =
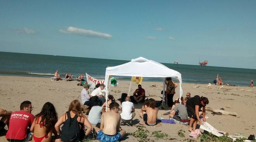
[[[154, 99], [149, 100], [149, 107], [142, 108], [143, 115], [139, 113], [140, 118], [143, 118], [143, 121], [146, 125], [154, 126], [157, 124], [157, 113], [158, 108], [156, 106], [156, 101]], [[141, 123], [144, 125], [144, 123]]]

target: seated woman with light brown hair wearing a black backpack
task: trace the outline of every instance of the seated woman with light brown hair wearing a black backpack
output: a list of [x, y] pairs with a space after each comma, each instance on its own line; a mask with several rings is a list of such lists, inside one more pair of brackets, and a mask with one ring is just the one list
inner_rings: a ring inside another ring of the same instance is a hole
[[[62, 124], [62, 130], [60, 130]], [[87, 127], [86, 132], [84, 131], [85, 127]], [[73, 100], [69, 105], [68, 111], [55, 124], [55, 129], [61, 135], [61, 139], [57, 139], [56, 141], [78, 142], [90, 134], [92, 125], [81, 112], [80, 102]]]

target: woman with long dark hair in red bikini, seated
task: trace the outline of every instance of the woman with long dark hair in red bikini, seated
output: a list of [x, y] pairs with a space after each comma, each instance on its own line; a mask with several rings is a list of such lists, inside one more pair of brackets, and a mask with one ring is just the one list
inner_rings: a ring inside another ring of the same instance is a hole
[[31, 125], [30, 131], [33, 132], [32, 142], [50, 142], [52, 133], [57, 136], [54, 128], [57, 121], [58, 116], [54, 105], [50, 102], [45, 103]]

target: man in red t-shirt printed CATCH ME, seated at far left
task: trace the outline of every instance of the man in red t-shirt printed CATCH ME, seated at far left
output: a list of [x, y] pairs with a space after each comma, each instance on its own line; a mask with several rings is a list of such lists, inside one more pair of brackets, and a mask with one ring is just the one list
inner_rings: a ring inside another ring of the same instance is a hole
[[26, 142], [32, 139], [32, 133], [28, 129], [34, 121], [31, 114], [32, 105], [30, 101], [23, 101], [20, 106], [21, 111], [13, 112], [10, 115], [9, 129], [6, 139], [9, 142]]

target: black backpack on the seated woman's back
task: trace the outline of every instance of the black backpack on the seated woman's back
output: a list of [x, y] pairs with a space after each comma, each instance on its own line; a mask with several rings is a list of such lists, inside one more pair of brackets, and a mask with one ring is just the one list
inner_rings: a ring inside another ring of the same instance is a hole
[[[64, 122], [61, 130], [62, 142], [78, 142], [80, 140], [80, 128], [79, 122], [76, 120], [77, 115], [71, 118], [70, 113], [67, 113], [67, 120]], [[66, 115], [65, 115], [66, 119]], [[80, 120], [81, 121], [81, 120]]]

